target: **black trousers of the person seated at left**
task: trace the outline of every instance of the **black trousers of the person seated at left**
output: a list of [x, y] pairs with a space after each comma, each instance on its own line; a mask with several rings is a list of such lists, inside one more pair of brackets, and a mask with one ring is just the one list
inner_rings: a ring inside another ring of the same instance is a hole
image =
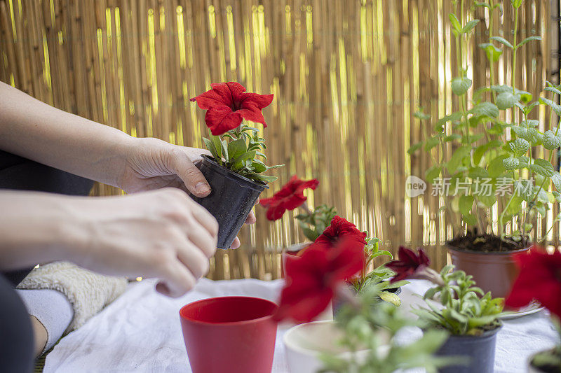
[[[93, 181], [0, 150], [0, 189], [88, 195]], [[0, 206], [1, 209], [1, 206]], [[1, 210], [0, 210], [1, 211]], [[23, 232], [22, 232], [23, 234]], [[32, 268], [0, 273], [0, 372], [32, 372], [31, 322], [15, 286]]]

